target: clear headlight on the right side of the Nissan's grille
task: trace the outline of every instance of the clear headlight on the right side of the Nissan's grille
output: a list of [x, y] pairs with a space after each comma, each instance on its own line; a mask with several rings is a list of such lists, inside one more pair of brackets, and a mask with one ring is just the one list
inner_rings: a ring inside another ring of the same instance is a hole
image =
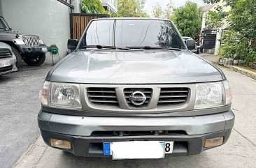
[[224, 105], [222, 82], [197, 84], [194, 109], [206, 109]]

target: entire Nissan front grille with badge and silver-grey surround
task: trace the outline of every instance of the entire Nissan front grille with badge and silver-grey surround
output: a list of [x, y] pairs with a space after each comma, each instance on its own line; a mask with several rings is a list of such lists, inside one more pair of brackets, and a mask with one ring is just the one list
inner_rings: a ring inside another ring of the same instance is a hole
[[194, 84], [82, 84], [84, 109], [117, 114], [168, 114], [193, 110]]

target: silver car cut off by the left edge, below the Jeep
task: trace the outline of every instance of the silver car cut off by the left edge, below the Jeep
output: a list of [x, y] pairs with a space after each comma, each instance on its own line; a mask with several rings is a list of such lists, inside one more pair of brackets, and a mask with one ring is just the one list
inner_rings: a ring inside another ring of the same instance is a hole
[[0, 76], [17, 71], [16, 57], [9, 45], [0, 42]]

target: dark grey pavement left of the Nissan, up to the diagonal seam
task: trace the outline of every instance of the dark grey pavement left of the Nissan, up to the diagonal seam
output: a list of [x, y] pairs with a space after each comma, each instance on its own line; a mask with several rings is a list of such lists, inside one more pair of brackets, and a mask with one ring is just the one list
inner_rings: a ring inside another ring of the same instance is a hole
[[0, 77], [0, 167], [12, 167], [39, 135], [39, 90], [50, 66], [22, 66]]

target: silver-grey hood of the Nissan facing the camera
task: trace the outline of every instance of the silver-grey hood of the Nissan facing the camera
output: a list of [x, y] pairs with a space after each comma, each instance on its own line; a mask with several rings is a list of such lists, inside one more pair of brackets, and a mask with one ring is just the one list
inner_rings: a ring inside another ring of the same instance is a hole
[[222, 80], [222, 74], [192, 52], [73, 52], [49, 72], [54, 82], [83, 84], [178, 84]]

